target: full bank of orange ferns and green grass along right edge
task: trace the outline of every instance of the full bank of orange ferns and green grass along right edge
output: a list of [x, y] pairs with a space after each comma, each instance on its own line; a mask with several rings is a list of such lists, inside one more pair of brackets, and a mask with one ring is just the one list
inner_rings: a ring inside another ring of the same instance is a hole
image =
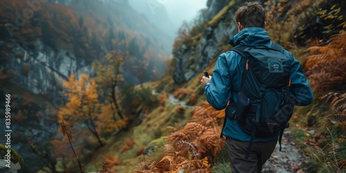
[[[343, 25], [345, 25], [345, 21]], [[315, 134], [309, 138], [307, 167], [311, 172], [345, 170], [346, 131], [346, 33], [332, 35], [324, 46], [311, 46], [305, 63], [306, 75], [318, 101], [308, 113]], [[307, 150], [306, 149], [306, 150]], [[332, 158], [328, 163], [326, 158]]]

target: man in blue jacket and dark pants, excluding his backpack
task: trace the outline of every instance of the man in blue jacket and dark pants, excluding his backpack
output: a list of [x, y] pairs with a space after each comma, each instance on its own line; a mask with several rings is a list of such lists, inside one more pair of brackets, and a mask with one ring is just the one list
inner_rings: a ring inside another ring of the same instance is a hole
[[[273, 46], [271, 38], [264, 30], [265, 14], [264, 8], [257, 2], [248, 2], [244, 6], [240, 6], [234, 17], [239, 33], [229, 43], [233, 47], [264, 46], [270, 48]], [[288, 51], [282, 49], [282, 53], [291, 62], [289, 94], [294, 98], [292, 104], [301, 106], [310, 104], [313, 100], [313, 93], [307, 78], [302, 73], [300, 63]], [[222, 53], [217, 59], [212, 77], [203, 76], [201, 79], [201, 87], [205, 91], [206, 99], [215, 109], [224, 109], [228, 101], [237, 103], [238, 94], [239, 91], [242, 91], [242, 82], [244, 82], [242, 77], [244, 78], [244, 71], [247, 68], [242, 57], [244, 58], [244, 55], [237, 51]], [[280, 63], [274, 64], [273, 68], [276, 68], [277, 65]], [[281, 69], [282, 71], [283, 69]], [[254, 137], [239, 127], [237, 116], [226, 117], [222, 131], [222, 134], [226, 136], [232, 172], [261, 172], [262, 165], [270, 158], [275, 149], [280, 133], [277, 132], [266, 137]], [[249, 145], [251, 147], [248, 147]]]

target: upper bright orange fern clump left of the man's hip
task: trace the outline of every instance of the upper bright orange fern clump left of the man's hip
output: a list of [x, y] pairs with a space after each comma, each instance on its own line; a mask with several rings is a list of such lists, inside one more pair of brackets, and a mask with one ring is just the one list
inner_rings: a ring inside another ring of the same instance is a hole
[[172, 132], [166, 143], [187, 141], [198, 146], [198, 154], [196, 154], [198, 158], [208, 156], [212, 161], [224, 147], [224, 138], [220, 138], [223, 119], [224, 111], [217, 111], [208, 102], [202, 102], [201, 106], [194, 107], [192, 118], [185, 127]]

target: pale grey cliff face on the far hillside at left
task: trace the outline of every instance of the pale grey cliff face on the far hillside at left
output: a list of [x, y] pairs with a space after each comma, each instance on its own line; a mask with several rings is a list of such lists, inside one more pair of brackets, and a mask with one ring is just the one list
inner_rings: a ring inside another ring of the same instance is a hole
[[0, 42], [0, 46], [11, 48], [7, 55], [12, 58], [6, 64], [6, 69], [13, 69], [16, 75], [14, 82], [35, 94], [55, 90], [57, 83], [67, 80], [73, 73], [88, 72], [82, 58], [64, 49], [55, 52], [39, 40], [34, 48], [24, 48], [15, 40]]

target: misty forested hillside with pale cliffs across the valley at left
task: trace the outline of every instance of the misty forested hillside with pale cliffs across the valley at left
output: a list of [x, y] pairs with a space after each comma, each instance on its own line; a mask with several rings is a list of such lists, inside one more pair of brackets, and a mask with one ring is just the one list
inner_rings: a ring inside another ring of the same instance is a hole
[[24, 172], [57, 163], [49, 153], [70, 75], [95, 76], [92, 63], [116, 51], [124, 83], [140, 84], [162, 78], [171, 54], [166, 35], [125, 1], [1, 1], [0, 11], [0, 93], [11, 95], [12, 147]]

